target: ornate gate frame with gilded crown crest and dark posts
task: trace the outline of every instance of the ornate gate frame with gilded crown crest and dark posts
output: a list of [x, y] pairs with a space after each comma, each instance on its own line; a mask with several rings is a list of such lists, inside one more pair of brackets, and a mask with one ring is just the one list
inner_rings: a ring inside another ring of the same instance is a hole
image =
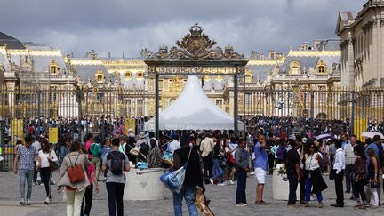
[[[159, 76], [229, 76], [234, 84], [234, 131], [238, 131], [238, 85], [245, 83], [245, 65], [248, 60], [244, 55], [234, 52], [231, 45], [224, 51], [214, 47], [215, 41], [203, 34], [203, 28], [196, 23], [189, 28], [189, 33], [168, 50], [161, 45], [159, 51], [144, 60], [148, 66], [149, 77], [155, 79], [155, 130], [159, 135]], [[245, 85], [244, 85], [245, 86]]]

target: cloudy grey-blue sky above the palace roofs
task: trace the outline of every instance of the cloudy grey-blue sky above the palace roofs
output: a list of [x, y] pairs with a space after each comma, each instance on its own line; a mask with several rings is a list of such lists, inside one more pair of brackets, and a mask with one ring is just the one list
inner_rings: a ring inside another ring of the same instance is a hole
[[137, 57], [142, 48], [172, 46], [198, 22], [221, 47], [287, 52], [290, 45], [337, 38], [338, 12], [367, 0], [0, 0], [0, 31], [21, 41], [83, 57]]

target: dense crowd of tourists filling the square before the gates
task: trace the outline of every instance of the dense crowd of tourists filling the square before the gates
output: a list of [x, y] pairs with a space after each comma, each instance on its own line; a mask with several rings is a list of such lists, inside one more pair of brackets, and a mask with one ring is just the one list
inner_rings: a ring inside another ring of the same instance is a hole
[[[104, 123], [97, 124], [108, 125]], [[52, 204], [52, 172], [58, 169], [56, 184], [58, 192], [65, 190], [67, 215], [90, 215], [92, 196], [94, 190], [99, 193], [101, 181], [106, 183], [109, 214], [124, 215], [125, 172], [141, 162], [148, 167], [171, 170], [178, 170], [188, 162], [183, 188], [173, 194], [175, 215], [181, 215], [183, 199], [189, 214], [197, 215], [196, 188], [204, 192], [204, 184], [218, 187], [236, 184], [236, 205], [247, 206], [245, 191], [249, 176], [257, 181], [255, 204], [268, 205], [264, 189], [270, 187], [270, 182], [266, 177], [275, 167], [280, 167], [278, 172], [289, 181], [286, 195], [289, 207], [296, 207], [298, 202], [309, 207], [311, 195], [315, 195], [316, 206], [323, 208], [322, 192], [328, 188], [325, 177], [335, 184], [336, 203], [332, 206], [344, 207], [344, 192], [356, 200], [356, 209], [380, 206], [384, 171], [380, 136], [364, 143], [356, 140], [349, 131], [348, 121], [316, 120], [314, 130], [309, 120], [290, 117], [256, 116], [247, 123], [248, 130], [242, 136], [226, 131], [180, 130], [160, 132], [158, 139], [154, 132], [132, 129], [125, 132], [120, 127], [124, 124], [112, 123], [105, 130], [93, 123], [92, 132], [85, 134], [68, 129], [72, 124], [62, 124], [67, 126], [61, 129], [56, 148], [50, 146], [46, 133], [29, 124], [34, 130], [27, 130], [24, 143], [19, 140], [14, 148], [20, 204], [30, 204], [37, 172], [46, 191], [44, 203]], [[324, 133], [328, 136], [316, 140], [317, 135]], [[172, 163], [164, 163], [168, 154]], [[296, 197], [297, 188], [300, 197]]]

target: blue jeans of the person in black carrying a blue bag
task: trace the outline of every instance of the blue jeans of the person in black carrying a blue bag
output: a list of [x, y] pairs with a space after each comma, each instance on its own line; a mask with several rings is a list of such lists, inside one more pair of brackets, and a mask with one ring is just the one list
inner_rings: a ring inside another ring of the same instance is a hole
[[195, 204], [196, 187], [183, 186], [180, 193], [173, 193], [173, 211], [175, 216], [182, 216], [182, 200], [185, 198], [190, 216], [198, 216]]

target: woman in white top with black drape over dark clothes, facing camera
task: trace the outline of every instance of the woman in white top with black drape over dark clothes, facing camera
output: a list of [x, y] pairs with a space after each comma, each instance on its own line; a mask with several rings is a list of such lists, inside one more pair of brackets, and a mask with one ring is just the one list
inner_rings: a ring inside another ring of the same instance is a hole
[[323, 208], [322, 191], [327, 188], [320, 171], [322, 156], [317, 152], [316, 145], [311, 142], [307, 147], [307, 154], [304, 156], [305, 165], [305, 207], [309, 206], [310, 194], [316, 194], [317, 207]]

